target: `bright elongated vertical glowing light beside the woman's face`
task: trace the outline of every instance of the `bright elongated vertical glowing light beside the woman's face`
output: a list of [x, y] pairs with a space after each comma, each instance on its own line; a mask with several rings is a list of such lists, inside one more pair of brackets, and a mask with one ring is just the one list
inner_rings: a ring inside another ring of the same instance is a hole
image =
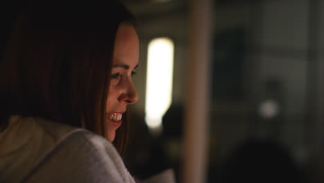
[[172, 101], [174, 44], [167, 37], [148, 46], [145, 121], [149, 128], [161, 128], [162, 116]]

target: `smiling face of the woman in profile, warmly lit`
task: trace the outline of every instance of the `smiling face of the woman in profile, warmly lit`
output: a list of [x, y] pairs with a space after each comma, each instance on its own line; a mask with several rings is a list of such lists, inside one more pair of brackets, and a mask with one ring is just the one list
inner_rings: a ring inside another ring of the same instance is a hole
[[138, 36], [129, 24], [120, 24], [116, 33], [111, 80], [106, 103], [107, 139], [114, 141], [127, 105], [138, 99], [132, 75], [138, 67]]

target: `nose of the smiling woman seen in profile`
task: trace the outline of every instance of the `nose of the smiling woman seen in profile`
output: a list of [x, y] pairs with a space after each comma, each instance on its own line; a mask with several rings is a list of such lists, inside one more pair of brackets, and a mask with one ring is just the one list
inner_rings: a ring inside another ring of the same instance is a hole
[[132, 104], [136, 103], [138, 100], [138, 94], [136, 92], [134, 83], [132, 82], [132, 79], [127, 80], [127, 82], [124, 85], [124, 89], [122, 91], [122, 94], [118, 97], [118, 101], [120, 103], [127, 103]]

